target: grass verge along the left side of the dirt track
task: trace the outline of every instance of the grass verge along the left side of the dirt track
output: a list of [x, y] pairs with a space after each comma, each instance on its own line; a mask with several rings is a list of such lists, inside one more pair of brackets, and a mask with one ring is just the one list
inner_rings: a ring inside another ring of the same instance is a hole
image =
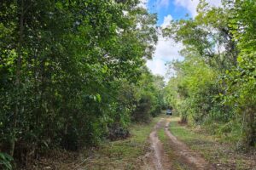
[[160, 117], [148, 124], [131, 125], [131, 137], [102, 143], [79, 169], [139, 169], [149, 149], [148, 136]]

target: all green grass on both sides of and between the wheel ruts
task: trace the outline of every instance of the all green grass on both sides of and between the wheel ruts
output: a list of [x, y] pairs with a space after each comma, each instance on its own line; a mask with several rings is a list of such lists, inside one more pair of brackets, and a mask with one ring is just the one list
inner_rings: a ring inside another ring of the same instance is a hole
[[[131, 137], [128, 139], [102, 143], [92, 153], [86, 154], [90, 158], [86, 158], [79, 169], [140, 169], [143, 161], [139, 158], [148, 152], [148, 135], [159, 120], [160, 117], [156, 117], [148, 124], [132, 125]], [[178, 121], [178, 117], [172, 117], [170, 124], [172, 134], [192, 150], [200, 153], [216, 169], [253, 169], [256, 167], [256, 159], [253, 161], [254, 157], [249, 159], [247, 155], [231, 150], [229, 145], [218, 143], [214, 136], [202, 133], [195, 128], [181, 126]], [[172, 169], [189, 169], [184, 166], [182, 160], [175, 156], [164, 129], [160, 129], [157, 133], [167, 156], [172, 160]]]

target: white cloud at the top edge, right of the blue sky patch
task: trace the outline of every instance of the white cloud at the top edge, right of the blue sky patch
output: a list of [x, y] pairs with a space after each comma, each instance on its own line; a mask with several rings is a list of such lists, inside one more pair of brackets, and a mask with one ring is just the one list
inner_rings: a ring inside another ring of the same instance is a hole
[[[196, 14], [197, 14], [196, 8], [197, 8], [197, 5], [199, 2], [200, 2], [199, 0], [175, 0], [174, 4], [176, 6], [186, 8], [189, 11], [189, 13], [191, 14], [191, 16], [193, 18], [195, 18]], [[207, 0], [207, 3], [209, 3], [210, 5], [212, 5], [214, 7], [221, 6], [221, 0]]]

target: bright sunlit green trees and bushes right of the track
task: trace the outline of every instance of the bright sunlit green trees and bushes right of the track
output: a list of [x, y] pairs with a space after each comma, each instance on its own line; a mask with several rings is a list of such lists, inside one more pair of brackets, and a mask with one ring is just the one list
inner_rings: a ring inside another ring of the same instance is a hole
[[201, 1], [195, 19], [175, 20], [166, 36], [183, 42], [183, 61], [166, 86], [166, 100], [183, 122], [203, 125], [240, 146], [256, 144], [256, 3]]

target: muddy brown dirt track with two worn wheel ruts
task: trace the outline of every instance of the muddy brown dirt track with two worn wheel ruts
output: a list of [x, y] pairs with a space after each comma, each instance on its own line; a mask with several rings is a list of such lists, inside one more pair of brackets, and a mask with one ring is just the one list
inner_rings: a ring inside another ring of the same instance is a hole
[[[149, 140], [151, 144], [151, 152], [148, 153], [148, 162], [147, 166], [143, 169], [155, 169], [155, 170], [169, 170], [177, 169], [174, 166], [174, 162], [180, 162], [182, 169], [212, 169], [199, 154], [195, 153], [193, 150], [190, 150], [186, 144], [179, 141], [175, 136], [172, 135], [172, 132], [169, 130], [171, 118], [161, 118], [160, 121], [155, 125], [154, 130], [149, 135]], [[157, 132], [160, 129], [165, 129], [166, 137], [168, 138], [168, 147], [172, 150], [172, 156], [167, 156], [166, 150], [164, 150], [163, 144], [158, 138]]]

